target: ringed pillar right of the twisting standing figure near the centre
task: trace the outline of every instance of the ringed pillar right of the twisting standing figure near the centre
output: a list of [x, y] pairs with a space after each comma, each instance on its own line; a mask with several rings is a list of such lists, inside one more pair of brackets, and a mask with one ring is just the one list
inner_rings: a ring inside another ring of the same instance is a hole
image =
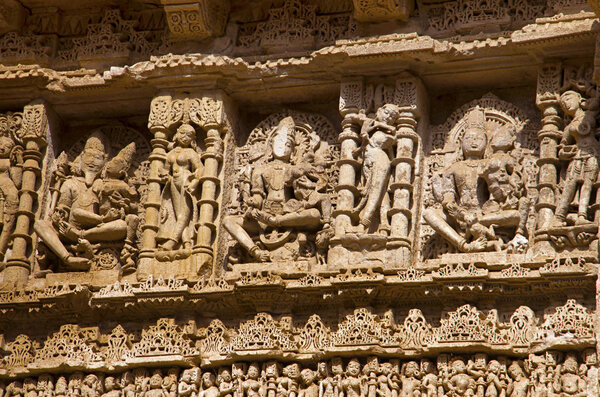
[[[396, 132], [396, 158], [392, 161], [394, 182], [390, 186], [392, 193], [391, 234], [388, 247], [400, 248], [398, 262], [406, 263], [412, 246], [411, 226], [415, 184], [415, 158], [419, 136], [417, 121], [423, 101], [422, 85], [415, 77], [396, 81], [394, 102], [400, 107], [398, 129]], [[400, 263], [398, 263], [400, 264]]]

